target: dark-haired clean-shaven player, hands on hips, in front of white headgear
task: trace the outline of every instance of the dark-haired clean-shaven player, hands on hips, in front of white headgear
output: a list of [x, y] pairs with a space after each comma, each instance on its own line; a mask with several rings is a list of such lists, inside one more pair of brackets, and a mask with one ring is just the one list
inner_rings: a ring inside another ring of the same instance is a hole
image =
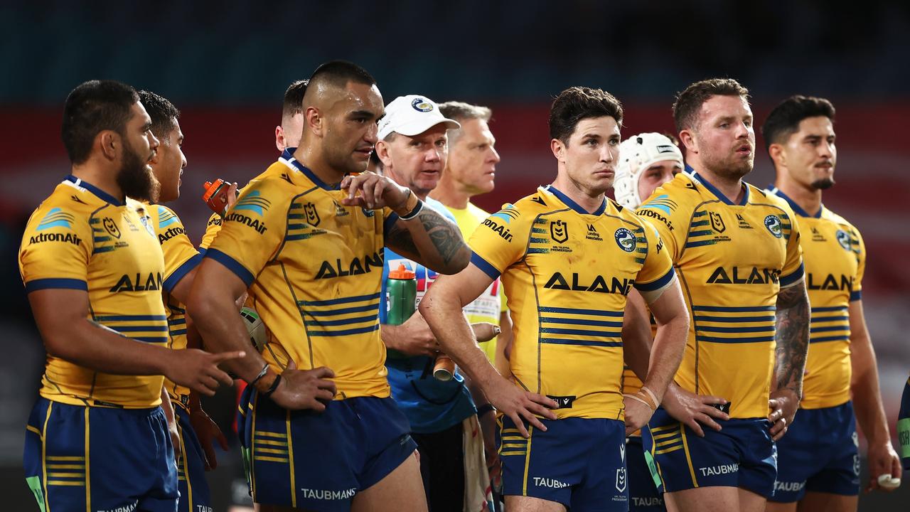
[[[506, 510], [627, 510], [625, 435], [647, 423], [680, 361], [688, 317], [667, 251], [644, 220], [604, 197], [621, 123], [609, 93], [562, 91], [550, 114], [556, 179], [484, 220], [468, 269], [441, 276], [420, 302], [443, 351], [502, 414]], [[500, 276], [514, 322], [508, 378], [461, 313]], [[633, 286], [661, 327], [645, 385], [623, 400]]]

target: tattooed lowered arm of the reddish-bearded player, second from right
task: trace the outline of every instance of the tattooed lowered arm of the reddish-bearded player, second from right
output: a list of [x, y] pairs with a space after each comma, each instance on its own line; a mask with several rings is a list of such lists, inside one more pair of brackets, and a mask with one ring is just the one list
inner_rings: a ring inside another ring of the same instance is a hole
[[784, 288], [777, 295], [775, 312], [777, 342], [774, 374], [777, 388], [803, 394], [803, 372], [809, 350], [809, 297], [803, 283]]

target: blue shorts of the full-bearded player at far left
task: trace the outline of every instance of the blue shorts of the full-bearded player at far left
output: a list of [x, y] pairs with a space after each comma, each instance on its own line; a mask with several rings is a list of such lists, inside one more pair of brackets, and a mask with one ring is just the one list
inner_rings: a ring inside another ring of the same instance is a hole
[[177, 463], [161, 407], [38, 398], [25, 428], [25, 480], [41, 509], [176, 510]]

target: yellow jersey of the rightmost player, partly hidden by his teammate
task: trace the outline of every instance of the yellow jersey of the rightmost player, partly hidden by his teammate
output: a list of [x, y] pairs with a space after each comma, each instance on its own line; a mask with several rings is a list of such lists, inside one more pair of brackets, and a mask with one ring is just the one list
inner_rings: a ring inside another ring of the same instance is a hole
[[809, 215], [784, 192], [804, 232], [805, 284], [812, 307], [809, 355], [800, 407], [819, 409], [850, 400], [850, 302], [862, 299], [865, 245], [859, 230], [822, 207]]

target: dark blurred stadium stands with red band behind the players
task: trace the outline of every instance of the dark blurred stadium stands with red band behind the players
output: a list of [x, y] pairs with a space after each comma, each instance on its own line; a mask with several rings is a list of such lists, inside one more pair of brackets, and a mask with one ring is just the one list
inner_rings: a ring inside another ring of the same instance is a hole
[[[757, 124], [784, 97], [829, 97], [839, 165], [824, 200], [864, 234], [866, 318], [894, 432], [910, 368], [908, 33], [906, 2], [0, 1], [0, 280], [10, 291], [0, 309], [4, 509], [35, 509], [22, 439], [44, 357], [16, 251], [28, 215], [68, 173], [59, 139], [66, 94], [92, 78], [156, 91], [183, 111], [189, 165], [171, 206], [194, 240], [207, 218], [201, 183], [243, 183], [265, 169], [277, 155], [288, 83], [333, 58], [366, 67], [387, 103], [422, 94], [490, 106], [502, 161], [496, 190], [476, 201], [488, 210], [551, 181], [546, 120], [565, 87], [620, 97], [626, 136], [672, 131], [673, 96], [706, 77], [749, 87]], [[761, 150], [748, 179], [773, 180]], [[226, 390], [207, 401], [226, 429], [231, 400]], [[239, 465], [236, 453], [221, 458], [211, 474], [218, 511]], [[863, 496], [860, 508], [905, 510], [908, 493]]]

